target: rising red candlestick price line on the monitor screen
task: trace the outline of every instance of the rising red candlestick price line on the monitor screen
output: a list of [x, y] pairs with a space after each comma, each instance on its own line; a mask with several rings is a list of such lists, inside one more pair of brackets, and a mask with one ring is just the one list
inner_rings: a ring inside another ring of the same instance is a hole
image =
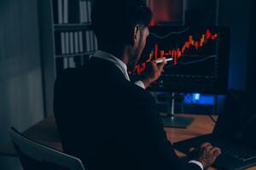
[[[178, 33], [178, 32], [175, 32], [175, 33]], [[169, 34], [167, 34], [167, 36], [168, 35]], [[146, 62], [140, 65], [137, 65], [136, 71], [138, 74], [141, 74], [146, 69], [146, 64], [150, 62], [153, 58], [160, 59], [166, 56], [171, 57], [173, 59], [172, 65], [176, 66], [178, 59], [180, 59], [187, 50], [189, 50], [190, 48], [195, 48], [195, 50], [199, 50], [200, 48], [203, 48], [208, 41], [216, 40], [217, 37], [218, 37], [217, 33], [212, 34], [210, 29], [207, 29], [205, 33], [201, 34], [201, 38], [199, 40], [195, 41], [193, 36], [189, 35], [188, 40], [183, 43], [183, 46], [181, 46], [182, 48], [169, 49], [167, 50], [167, 52], [165, 50], [159, 49], [158, 44], [155, 43], [154, 50], [151, 51]], [[160, 37], [160, 39], [162, 38], [164, 37]]]

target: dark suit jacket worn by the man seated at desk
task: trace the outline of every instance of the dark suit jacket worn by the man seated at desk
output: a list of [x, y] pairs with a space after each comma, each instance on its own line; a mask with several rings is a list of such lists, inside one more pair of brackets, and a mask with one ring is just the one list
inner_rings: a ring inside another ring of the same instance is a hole
[[107, 60], [57, 77], [54, 108], [63, 149], [88, 170], [201, 169], [175, 154], [153, 96]]

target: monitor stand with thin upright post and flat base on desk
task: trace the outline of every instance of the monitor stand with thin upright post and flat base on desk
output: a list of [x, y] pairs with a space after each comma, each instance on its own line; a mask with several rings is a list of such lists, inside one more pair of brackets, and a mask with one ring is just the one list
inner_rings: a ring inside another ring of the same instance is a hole
[[[194, 122], [193, 117], [175, 116], [174, 114], [175, 94], [172, 93], [172, 108], [171, 113], [167, 113], [167, 116], [162, 118], [165, 127], [187, 128]], [[168, 109], [168, 112], [170, 110]]]

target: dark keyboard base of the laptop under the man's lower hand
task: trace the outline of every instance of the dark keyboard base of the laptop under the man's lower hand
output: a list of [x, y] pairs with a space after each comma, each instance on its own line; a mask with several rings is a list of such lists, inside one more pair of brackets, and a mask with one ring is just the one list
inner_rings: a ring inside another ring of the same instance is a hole
[[234, 142], [228, 140], [214, 138], [212, 134], [177, 142], [173, 146], [175, 149], [188, 154], [189, 148], [199, 147], [205, 142], [210, 142], [222, 150], [222, 154], [218, 156], [213, 164], [213, 167], [217, 169], [241, 170], [256, 165], [256, 150], [249, 149], [244, 145], [234, 144]]

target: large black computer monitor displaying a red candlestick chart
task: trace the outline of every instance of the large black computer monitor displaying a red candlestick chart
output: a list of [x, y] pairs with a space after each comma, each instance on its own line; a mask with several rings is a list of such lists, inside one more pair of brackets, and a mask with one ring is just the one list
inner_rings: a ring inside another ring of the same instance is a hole
[[148, 89], [224, 94], [228, 88], [230, 29], [227, 27], [149, 27], [143, 55], [131, 73], [143, 77], [147, 65], [166, 57], [165, 71]]

